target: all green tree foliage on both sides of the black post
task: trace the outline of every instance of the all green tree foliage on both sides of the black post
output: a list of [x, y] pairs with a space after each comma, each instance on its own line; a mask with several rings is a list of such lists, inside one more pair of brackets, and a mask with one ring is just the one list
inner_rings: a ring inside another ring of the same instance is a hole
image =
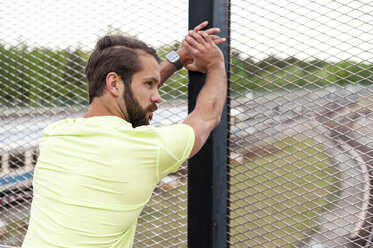
[[[161, 58], [179, 43], [158, 49]], [[88, 104], [84, 66], [89, 53], [75, 50], [29, 48], [25, 44], [5, 47], [0, 44], [0, 104], [2, 106], [60, 106]], [[369, 85], [373, 65], [340, 61], [303, 61], [295, 57], [269, 56], [261, 61], [231, 54], [233, 92], [268, 92], [329, 85]], [[187, 71], [174, 74], [161, 88], [163, 98], [185, 97]]]

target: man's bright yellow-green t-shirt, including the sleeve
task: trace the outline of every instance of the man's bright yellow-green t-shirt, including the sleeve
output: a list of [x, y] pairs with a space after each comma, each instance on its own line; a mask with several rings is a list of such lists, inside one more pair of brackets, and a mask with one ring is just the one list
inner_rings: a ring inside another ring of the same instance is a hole
[[67, 119], [43, 130], [30, 247], [132, 247], [157, 183], [189, 157], [193, 129], [154, 128], [114, 116]]

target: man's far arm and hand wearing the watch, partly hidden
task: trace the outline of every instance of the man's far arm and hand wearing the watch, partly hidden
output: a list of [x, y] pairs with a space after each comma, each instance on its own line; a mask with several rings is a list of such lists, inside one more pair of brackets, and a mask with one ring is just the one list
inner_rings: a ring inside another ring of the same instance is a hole
[[[202, 22], [201, 24], [199, 24], [198, 26], [196, 26], [193, 29], [193, 31], [194, 32], [198, 32], [198, 31], [202, 30], [203, 28], [205, 28], [207, 26], [207, 24], [208, 24], [207, 21]], [[189, 33], [190, 32], [192, 32], [192, 31], [189, 31]], [[220, 29], [218, 29], [218, 28], [210, 28], [210, 29], [207, 29], [205, 32], [210, 35], [211, 39], [215, 42], [215, 44], [219, 45], [219, 44], [225, 42], [225, 38], [221, 38], [221, 37], [219, 37], [217, 35], [214, 35], [216, 33], [219, 33]], [[179, 49], [176, 52], [177, 52], [177, 54], [180, 57], [181, 64], [185, 66], [185, 65], [193, 62], [193, 57], [191, 56], [190, 51], [183, 44], [184, 44], [184, 42], [182, 42], [180, 44], [180, 47], [179, 47]], [[161, 82], [160, 82], [160, 84], [159, 84], [158, 87], [161, 87], [162, 84], [172, 74], [174, 74], [177, 71], [175, 65], [172, 64], [171, 62], [169, 62], [168, 60], [165, 60], [161, 64], [160, 70], [161, 70]]]

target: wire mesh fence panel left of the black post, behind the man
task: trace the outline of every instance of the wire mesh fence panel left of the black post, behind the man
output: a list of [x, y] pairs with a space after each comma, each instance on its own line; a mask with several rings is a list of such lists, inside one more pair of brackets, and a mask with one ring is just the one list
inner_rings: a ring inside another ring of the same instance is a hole
[[[88, 109], [85, 63], [106, 34], [137, 37], [164, 54], [186, 34], [187, 1], [5, 1], [0, 18], [0, 246], [20, 246], [32, 200], [41, 130]], [[167, 6], [165, 8], [165, 6]], [[161, 89], [152, 125], [187, 114], [186, 71]], [[186, 165], [162, 179], [134, 247], [186, 246]]]

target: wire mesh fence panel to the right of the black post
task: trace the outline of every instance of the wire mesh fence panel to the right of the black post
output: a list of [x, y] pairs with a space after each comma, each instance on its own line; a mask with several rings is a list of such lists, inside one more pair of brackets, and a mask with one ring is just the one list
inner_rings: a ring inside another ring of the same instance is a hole
[[373, 247], [372, 10], [231, 1], [232, 247]]

